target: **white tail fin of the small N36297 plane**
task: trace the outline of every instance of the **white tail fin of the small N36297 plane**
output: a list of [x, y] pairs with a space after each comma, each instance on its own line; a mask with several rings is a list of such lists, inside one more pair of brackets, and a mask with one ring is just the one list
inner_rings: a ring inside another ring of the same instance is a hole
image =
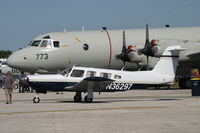
[[167, 47], [152, 72], [175, 76], [178, 66], [178, 57], [182, 50], [184, 49], [181, 48], [181, 46]]

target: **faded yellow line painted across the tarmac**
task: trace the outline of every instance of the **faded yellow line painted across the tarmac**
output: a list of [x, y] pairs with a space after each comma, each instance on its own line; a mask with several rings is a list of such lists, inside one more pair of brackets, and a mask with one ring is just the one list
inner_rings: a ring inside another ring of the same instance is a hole
[[84, 111], [109, 111], [109, 110], [133, 110], [133, 109], [157, 109], [157, 108], [169, 108], [169, 106], [144, 106], [144, 107], [119, 107], [119, 108], [95, 108], [95, 109], [69, 109], [69, 110], [41, 110], [41, 111], [27, 111], [27, 112], [1, 112], [0, 115], [12, 115], [12, 114], [35, 114], [35, 113], [57, 113], [57, 112], [84, 112]]

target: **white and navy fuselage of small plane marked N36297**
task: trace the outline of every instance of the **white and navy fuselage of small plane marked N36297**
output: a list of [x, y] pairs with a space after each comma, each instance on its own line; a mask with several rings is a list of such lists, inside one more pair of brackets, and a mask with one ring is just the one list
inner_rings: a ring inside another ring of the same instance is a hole
[[95, 77], [108, 78], [114, 81], [102, 90], [95, 90], [97, 92], [126, 91], [135, 88], [170, 86], [174, 82], [174, 76], [154, 73], [153, 71], [129, 72], [86, 67], [75, 67], [66, 75], [28, 75], [28, 78], [29, 85], [38, 92], [68, 91], [68, 87], [75, 86], [83, 79], [91, 77], [91, 74]]

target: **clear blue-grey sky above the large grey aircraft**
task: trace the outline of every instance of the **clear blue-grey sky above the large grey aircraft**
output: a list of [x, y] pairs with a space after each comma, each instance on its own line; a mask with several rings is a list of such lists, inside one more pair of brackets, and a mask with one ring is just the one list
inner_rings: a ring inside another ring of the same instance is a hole
[[40, 34], [200, 26], [200, 0], [0, 0], [0, 50], [17, 51]]

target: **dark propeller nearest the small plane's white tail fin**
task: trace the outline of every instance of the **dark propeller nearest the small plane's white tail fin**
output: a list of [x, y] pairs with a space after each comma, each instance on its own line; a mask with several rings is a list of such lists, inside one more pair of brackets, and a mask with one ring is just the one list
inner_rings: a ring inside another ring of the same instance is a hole
[[147, 70], [149, 70], [149, 56], [154, 56], [157, 52], [156, 40], [152, 40], [151, 43], [149, 42], [149, 27], [148, 24], [146, 25], [146, 41], [144, 48], [139, 49], [139, 52], [146, 55], [147, 57]]

